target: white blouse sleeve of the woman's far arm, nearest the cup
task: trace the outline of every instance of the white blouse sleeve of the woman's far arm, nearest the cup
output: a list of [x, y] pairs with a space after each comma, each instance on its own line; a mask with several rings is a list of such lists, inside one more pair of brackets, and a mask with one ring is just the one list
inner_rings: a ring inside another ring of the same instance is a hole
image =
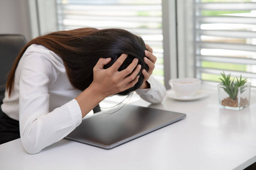
[[166, 96], [166, 88], [154, 76], [150, 76], [147, 80], [150, 84], [148, 89], [138, 89], [136, 92], [143, 100], [148, 101], [152, 104], [161, 103]]

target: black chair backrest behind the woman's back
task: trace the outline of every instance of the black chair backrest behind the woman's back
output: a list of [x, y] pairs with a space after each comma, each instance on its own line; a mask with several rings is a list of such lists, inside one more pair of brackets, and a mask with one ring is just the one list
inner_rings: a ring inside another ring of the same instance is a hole
[[23, 35], [0, 35], [0, 104], [5, 93], [8, 73], [27, 40]]

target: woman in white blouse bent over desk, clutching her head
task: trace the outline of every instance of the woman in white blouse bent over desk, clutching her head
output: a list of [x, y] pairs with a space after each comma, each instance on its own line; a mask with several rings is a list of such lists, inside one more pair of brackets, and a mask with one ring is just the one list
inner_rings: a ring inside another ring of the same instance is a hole
[[81, 28], [31, 40], [7, 80], [1, 142], [20, 135], [24, 149], [36, 154], [71, 133], [105, 97], [137, 90], [160, 103], [166, 90], [150, 76], [155, 61], [150, 46], [123, 29]]

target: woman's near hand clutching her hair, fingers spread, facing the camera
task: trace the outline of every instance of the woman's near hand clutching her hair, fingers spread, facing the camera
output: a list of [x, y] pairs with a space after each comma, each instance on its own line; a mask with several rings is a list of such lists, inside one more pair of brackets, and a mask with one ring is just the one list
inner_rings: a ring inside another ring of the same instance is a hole
[[138, 82], [138, 73], [141, 70], [141, 65], [137, 66], [138, 58], [134, 58], [133, 62], [125, 70], [118, 71], [126, 58], [127, 54], [122, 54], [108, 69], [104, 69], [104, 65], [108, 64], [111, 58], [100, 58], [93, 68], [91, 86], [96, 87], [105, 97], [133, 87]]

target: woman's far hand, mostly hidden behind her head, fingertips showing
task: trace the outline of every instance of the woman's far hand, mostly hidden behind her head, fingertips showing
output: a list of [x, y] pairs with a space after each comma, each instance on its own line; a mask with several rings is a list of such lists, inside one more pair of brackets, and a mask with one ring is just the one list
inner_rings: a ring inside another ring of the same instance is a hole
[[145, 50], [145, 56], [146, 57], [144, 57], [144, 61], [148, 65], [148, 71], [146, 71], [145, 69], [142, 70], [144, 80], [143, 80], [143, 84], [140, 87], [140, 89], [150, 88], [148, 86], [149, 84], [147, 83], [147, 80], [150, 78], [150, 75], [153, 73], [153, 70], [155, 68], [155, 62], [156, 62], [156, 57], [154, 56], [154, 54], [152, 54], [152, 52], [153, 52], [152, 48], [147, 44], [145, 44], [145, 45], [146, 45], [147, 50]]

